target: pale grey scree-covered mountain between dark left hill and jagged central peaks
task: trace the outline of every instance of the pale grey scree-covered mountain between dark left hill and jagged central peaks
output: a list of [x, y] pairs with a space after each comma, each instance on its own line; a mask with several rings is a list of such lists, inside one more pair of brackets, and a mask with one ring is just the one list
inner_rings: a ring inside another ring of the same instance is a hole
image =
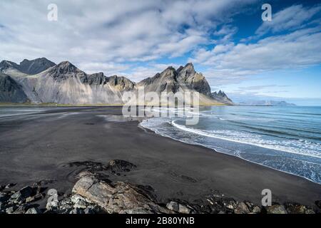
[[121, 93], [135, 86], [123, 77], [89, 75], [68, 61], [16, 80], [35, 103], [121, 104]]

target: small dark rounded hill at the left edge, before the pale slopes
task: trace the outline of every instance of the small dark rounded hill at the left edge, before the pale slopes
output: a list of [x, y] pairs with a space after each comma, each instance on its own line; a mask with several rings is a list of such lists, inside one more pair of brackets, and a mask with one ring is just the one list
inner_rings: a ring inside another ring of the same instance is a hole
[[0, 103], [25, 103], [29, 99], [19, 83], [0, 73]]

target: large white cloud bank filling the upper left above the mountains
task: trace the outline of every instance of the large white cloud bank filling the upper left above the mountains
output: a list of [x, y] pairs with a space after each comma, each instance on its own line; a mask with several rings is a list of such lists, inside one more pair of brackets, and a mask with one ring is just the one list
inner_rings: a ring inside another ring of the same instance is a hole
[[56, 0], [54, 22], [47, 21], [51, 0], [1, 1], [0, 56], [16, 62], [44, 56], [117, 72], [128, 61], [196, 50], [210, 42], [210, 31], [253, 1]]

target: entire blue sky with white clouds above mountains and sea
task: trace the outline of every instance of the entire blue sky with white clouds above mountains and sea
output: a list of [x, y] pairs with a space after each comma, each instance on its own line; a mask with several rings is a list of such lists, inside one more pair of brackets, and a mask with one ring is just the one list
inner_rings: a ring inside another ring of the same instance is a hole
[[46, 57], [136, 82], [192, 62], [231, 98], [321, 105], [320, 1], [1, 0], [0, 9], [1, 60]]

